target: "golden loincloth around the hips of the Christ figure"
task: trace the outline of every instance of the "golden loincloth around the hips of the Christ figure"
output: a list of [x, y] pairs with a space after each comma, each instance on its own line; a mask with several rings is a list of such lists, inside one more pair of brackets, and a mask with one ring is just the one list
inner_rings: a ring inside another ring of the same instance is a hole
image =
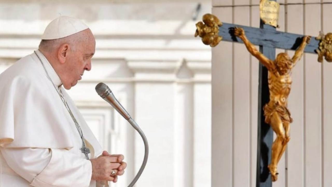
[[264, 116], [265, 122], [270, 124], [271, 116], [274, 112], [277, 112], [280, 116], [282, 122], [293, 122], [293, 119], [290, 117], [290, 111], [287, 109], [286, 106], [281, 106], [278, 102], [277, 103], [268, 103], [264, 106]]

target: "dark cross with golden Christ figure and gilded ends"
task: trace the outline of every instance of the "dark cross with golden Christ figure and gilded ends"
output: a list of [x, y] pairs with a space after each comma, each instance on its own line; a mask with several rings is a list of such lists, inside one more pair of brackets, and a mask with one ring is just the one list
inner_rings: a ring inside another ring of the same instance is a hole
[[[277, 163], [289, 141], [289, 124], [292, 121], [287, 109], [290, 70], [304, 52], [317, 53], [318, 62], [322, 62], [323, 57], [331, 62], [332, 34], [324, 36], [321, 32], [319, 37], [310, 40], [309, 36], [276, 31], [275, 27], [265, 24], [266, 21], [261, 20], [260, 28], [252, 28], [221, 23], [211, 14], [204, 15], [203, 22], [196, 24], [195, 36], [202, 37], [204, 44], [214, 47], [221, 40], [244, 43], [248, 51], [260, 60], [256, 186], [271, 187], [272, 181], [277, 180]], [[259, 52], [254, 45], [260, 46]], [[296, 52], [293, 58], [281, 53], [275, 59], [276, 48]], [[277, 133], [274, 143], [273, 131]]]

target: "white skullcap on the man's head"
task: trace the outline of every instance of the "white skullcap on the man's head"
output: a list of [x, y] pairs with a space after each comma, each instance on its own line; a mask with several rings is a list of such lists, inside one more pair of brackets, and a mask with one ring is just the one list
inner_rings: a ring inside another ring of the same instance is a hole
[[87, 25], [78, 19], [60, 16], [47, 25], [41, 39], [53, 40], [64, 38], [88, 28], [89, 27]]

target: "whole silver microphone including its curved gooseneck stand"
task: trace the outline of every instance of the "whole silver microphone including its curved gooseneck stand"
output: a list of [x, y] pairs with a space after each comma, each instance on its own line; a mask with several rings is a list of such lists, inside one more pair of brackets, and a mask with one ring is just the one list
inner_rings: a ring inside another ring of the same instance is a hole
[[128, 187], [132, 187], [136, 183], [136, 181], [138, 180], [140, 175], [142, 174], [142, 172], [145, 168], [145, 165], [147, 163], [147, 158], [148, 158], [148, 154], [149, 154], [149, 145], [147, 143], [147, 139], [146, 139], [145, 134], [143, 133], [143, 131], [139, 128], [137, 123], [130, 117], [128, 112], [124, 109], [124, 107], [117, 100], [117, 98], [115, 98], [115, 96], [112, 93], [111, 89], [106, 84], [104, 84], [104, 83], [97, 84], [96, 92], [104, 100], [106, 100], [108, 103], [110, 103], [131, 124], [131, 126], [134, 127], [137, 130], [137, 132], [141, 135], [141, 137], [143, 139], [144, 147], [145, 147], [144, 159], [143, 159], [143, 163], [142, 163], [141, 167], [139, 168], [135, 178], [128, 185]]

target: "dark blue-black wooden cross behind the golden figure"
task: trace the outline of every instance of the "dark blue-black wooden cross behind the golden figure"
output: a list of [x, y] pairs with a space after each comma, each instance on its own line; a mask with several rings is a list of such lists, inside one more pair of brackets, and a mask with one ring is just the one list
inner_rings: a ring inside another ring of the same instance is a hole
[[[222, 26], [219, 26], [219, 36], [222, 36], [222, 41], [243, 43], [242, 40], [234, 36], [234, 27], [243, 28], [248, 40], [254, 45], [259, 45], [260, 52], [271, 60], [275, 60], [276, 48], [296, 50], [303, 38], [303, 35], [276, 31], [275, 27], [266, 25], [261, 20], [260, 28], [222, 23]], [[304, 52], [316, 53], [315, 50], [318, 49], [319, 42], [312, 38]], [[269, 97], [268, 70], [259, 63], [256, 187], [272, 187], [270, 171], [267, 166], [271, 162], [273, 130], [269, 124], [265, 123], [263, 111], [263, 106], [269, 102]]]

